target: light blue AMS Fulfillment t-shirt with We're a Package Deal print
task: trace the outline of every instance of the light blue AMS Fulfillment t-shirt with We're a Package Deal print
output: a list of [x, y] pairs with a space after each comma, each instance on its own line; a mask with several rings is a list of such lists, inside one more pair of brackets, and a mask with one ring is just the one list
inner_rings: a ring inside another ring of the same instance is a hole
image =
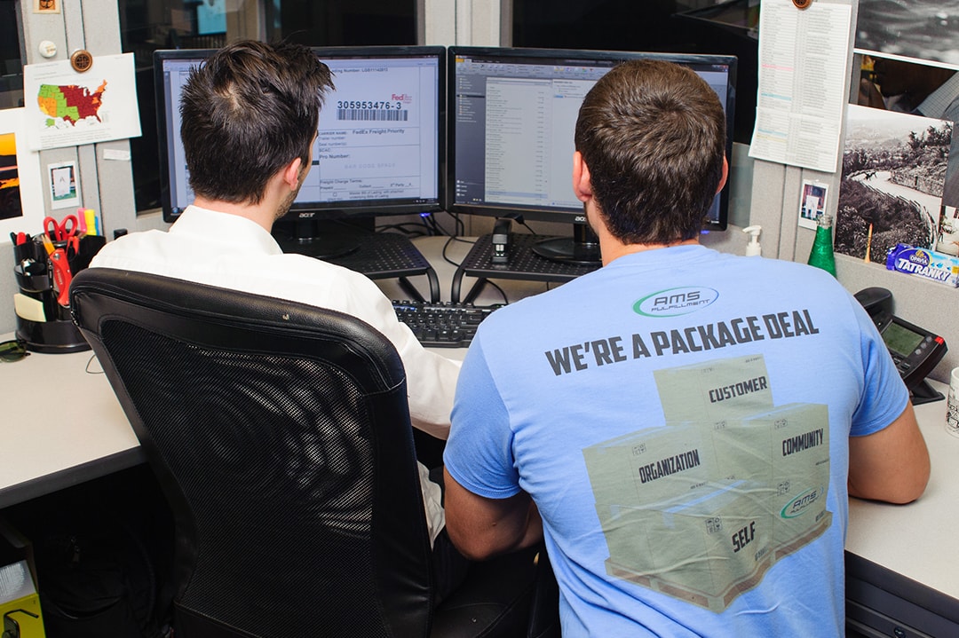
[[677, 246], [486, 319], [444, 461], [532, 496], [565, 638], [840, 636], [848, 438], [907, 401], [830, 275]]

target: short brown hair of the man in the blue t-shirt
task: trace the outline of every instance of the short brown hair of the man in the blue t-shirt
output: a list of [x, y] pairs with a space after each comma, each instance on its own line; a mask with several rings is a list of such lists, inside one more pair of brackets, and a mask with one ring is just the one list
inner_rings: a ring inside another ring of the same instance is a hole
[[587, 94], [575, 145], [599, 213], [625, 243], [673, 243], [703, 228], [722, 177], [726, 117], [689, 68], [623, 62]]

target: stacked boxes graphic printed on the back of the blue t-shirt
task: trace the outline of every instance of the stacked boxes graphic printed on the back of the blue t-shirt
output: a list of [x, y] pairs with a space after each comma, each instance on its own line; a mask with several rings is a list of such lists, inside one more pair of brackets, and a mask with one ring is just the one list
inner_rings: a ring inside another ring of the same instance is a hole
[[761, 355], [654, 376], [666, 425], [583, 450], [606, 570], [722, 611], [829, 528], [827, 406], [774, 406]]

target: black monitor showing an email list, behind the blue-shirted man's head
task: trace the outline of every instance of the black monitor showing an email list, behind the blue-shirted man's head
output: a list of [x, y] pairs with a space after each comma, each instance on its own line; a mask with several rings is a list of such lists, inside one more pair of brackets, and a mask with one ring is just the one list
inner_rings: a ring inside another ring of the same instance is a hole
[[[665, 59], [709, 82], [726, 111], [732, 160], [736, 57], [459, 46], [450, 47], [448, 57], [448, 210], [573, 224], [572, 237], [535, 245], [534, 252], [548, 259], [599, 261], [596, 238], [573, 194], [573, 132], [586, 93], [621, 61]], [[728, 205], [723, 189], [707, 230], [725, 230]]]

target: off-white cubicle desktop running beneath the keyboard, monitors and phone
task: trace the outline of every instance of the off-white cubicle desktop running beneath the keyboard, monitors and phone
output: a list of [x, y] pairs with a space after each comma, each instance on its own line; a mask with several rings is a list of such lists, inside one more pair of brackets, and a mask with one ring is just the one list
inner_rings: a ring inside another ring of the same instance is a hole
[[[442, 260], [445, 239], [417, 239], [415, 243], [433, 263], [443, 297], [448, 299], [456, 266]], [[468, 250], [469, 244], [453, 242], [448, 256], [458, 261]], [[419, 285], [415, 278], [412, 281]], [[377, 283], [387, 296], [406, 296], [395, 282]], [[471, 284], [469, 278], [463, 283]], [[515, 301], [542, 292], [547, 285], [511, 281], [506, 289], [509, 301]], [[477, 300], [478, 304], [502, 302], [490, 286]], [[453, 358], [465, 353], [462, 349], [436, 352]], [[143, 462], [106, 377], [86, 372], [91, 356], [89, 352], [33, 353], [22, 361], [0, 364], [6, 403], [0, 425], [0, 449], [4, 451], [0, 509]], [[95, 360], [90, 369], [100, 370]], [[935, 385], [943, 389], [943, 384]], [[67, 405], [69, 409], [64, 407]], [[869, 591], [860, 593], [869, 599], [867, 603], [886, 605], [883, 608], [888, 612], [888, 604], [898, 603], [888, 603], [885, 596], [905, 598], [910, 601], [907, 605], [932, 608], [959, 627], [959, 561], [954, 550], [959, 534], [959, 471], [955, 469], [959, 467], [959, 438], [945, 430], [945, 409], [945, 401], [916, 409], [932, 458], [932, 477], [924, 496], [905, 506], [853, 499], [847, 552], [853, 558], [850, 580], [865, 583]], [[881, 591], [872, 591], [874, 586]]]

